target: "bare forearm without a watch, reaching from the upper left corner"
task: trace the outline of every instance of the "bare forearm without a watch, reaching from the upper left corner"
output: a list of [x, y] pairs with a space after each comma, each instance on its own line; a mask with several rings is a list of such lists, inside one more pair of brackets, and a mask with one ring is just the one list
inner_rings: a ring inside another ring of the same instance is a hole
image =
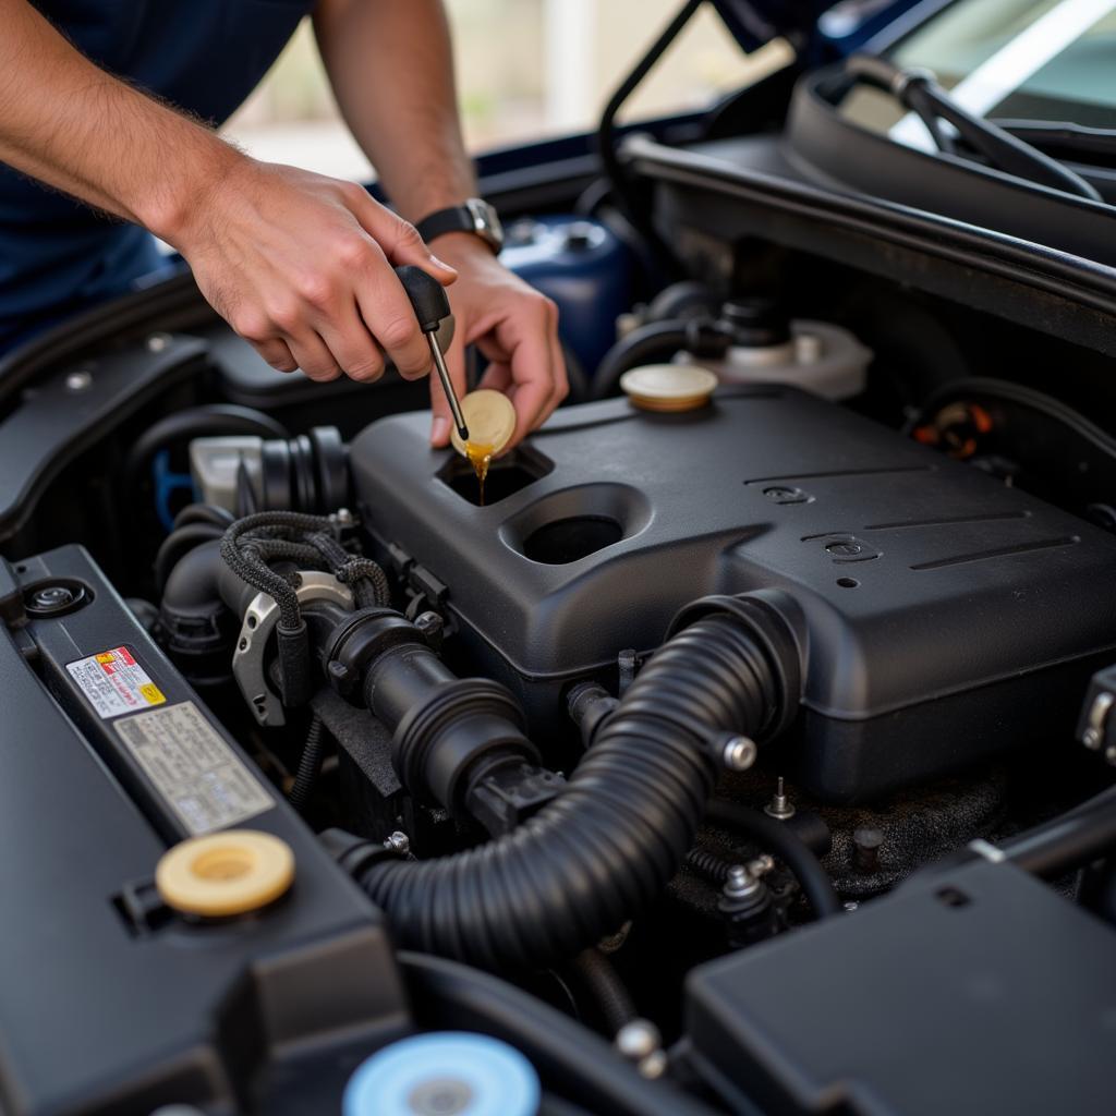
[[0, 160], [173, 241], [242, 156], [99, 69], [27, 0], [0, 0]]

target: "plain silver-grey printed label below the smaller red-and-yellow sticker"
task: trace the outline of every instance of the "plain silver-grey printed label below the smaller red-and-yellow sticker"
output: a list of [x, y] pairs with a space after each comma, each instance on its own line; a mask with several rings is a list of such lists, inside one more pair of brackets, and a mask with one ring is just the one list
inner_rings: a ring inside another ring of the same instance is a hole
[[273, 805], [192, 701], [129, 716], [116, 731], [192, 837], [235, 825]]

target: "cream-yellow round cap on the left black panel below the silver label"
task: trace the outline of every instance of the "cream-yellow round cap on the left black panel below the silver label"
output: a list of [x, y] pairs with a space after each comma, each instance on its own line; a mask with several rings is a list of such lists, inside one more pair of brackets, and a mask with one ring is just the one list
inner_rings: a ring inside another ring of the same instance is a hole
[[155, 886], [183, 914], [227, 918], [273, 903], [295, 879], [290, 846], [258, 829], [191, 837], [163, 854]]

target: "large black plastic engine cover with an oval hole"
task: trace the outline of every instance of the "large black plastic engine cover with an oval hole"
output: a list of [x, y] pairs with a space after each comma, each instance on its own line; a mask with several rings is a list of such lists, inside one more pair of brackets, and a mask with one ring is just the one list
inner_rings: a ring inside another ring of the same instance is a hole
[[359, 435], [360, 506], [449, 587], [470, 662], [540, 739], [569, 682], [607, 679], [711, 593], [797, 602], [806, 713], [783, 759], [833, 800], [1069, 739], [1079, 683], [1116, 643], [1116, 539], [801, 392], [570, 407], [493, 466], [484, 508], [427, 423]]

